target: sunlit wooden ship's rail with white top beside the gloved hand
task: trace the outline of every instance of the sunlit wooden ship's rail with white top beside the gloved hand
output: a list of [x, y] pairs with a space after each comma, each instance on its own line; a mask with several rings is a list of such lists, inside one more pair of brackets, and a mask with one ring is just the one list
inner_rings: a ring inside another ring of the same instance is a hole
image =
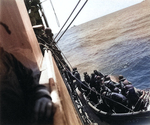
[[53, 125], [81, 125], [82, 123], [50, 51], [45, 51], [42, 69], [40, 83], [49, 87], [56, 107]]

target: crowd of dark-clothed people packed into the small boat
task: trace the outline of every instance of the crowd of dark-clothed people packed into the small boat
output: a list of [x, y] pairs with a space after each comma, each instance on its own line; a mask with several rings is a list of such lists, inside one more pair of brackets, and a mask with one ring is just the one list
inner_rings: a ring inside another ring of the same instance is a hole
[[144, 92], [133, 87], [122, 75], [118, 76], [117, 82], [97, 70], [94, 70], [91, 76], [84, 72], [83, 81], [77, 68], [73, 69], [72, 75], [71, 87], [77, 86], [93, 105], [103, 104], [113, 112], [139, 111], [144, 108], [141, 99]]

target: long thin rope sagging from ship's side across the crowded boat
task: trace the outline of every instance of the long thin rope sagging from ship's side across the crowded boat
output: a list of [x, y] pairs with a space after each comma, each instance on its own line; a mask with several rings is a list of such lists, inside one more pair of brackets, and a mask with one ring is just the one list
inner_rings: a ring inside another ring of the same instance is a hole
[[[57, 55], [56, 55], [56, 58], [58, 58]], [[60, 60], [59, 58], [58, 58], [58, 60], [61, 62], [61, 60]], [[62, 63], [62, 62], [61, 62], [61, 63]], [[110, 101], [112, 101], [112, 102], [114, 102], [114, 103], [117, 103], [117, 104], [123, 106], [124, 108], [128, 109], [129, 111], [133, 112], [132, 109], [128, 108], [127, 106], [125, 106], [125, 105], [123, 105], [123, 104], [121, 104], [120, 102], [117, 102], [117, 101], [115, 101], [115, 100], [113, 100], [113, 99], [111, 99], [111, 98], [108, 98], [108, 97], [106, 97], [106, 96], [104, 96], [104, 95], [98, 93], [97, 91], [92, 90], [91, 88], [89, 88], [88, 86], [86, 86], [85, 84], [83, 84], [82, 81], [80, 81], [78, 78], [76, 78], [76, 77], [71, 73], [71, 71], [69, 71], [69, 70], [66, 68], [66, 66], [65, 66], [63, 63], [62, 63], [62, 65], [63, 65], [63, 66], [65, 67], [65, 69], [71, 74], [72, 77], [74, 77], [80, 84], [82, 84], [83, 86], [85, 86], [87, 89], [89, 89], [89, 90], [93, 91], [94, 93], [98, 94], [99, 96], [102, 96], [102, 97], [104, 97], [104, 98], [106, 98], [106, 99], [108, 99], [108, 100], [110, 100]]]

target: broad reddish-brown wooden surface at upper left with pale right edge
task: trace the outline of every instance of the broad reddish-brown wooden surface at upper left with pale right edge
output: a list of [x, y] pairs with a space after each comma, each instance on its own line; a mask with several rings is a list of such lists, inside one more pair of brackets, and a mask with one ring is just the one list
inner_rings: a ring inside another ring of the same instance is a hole
[[0, 46], [39, 70], [43, 56], [23, 0], [0, 0]]

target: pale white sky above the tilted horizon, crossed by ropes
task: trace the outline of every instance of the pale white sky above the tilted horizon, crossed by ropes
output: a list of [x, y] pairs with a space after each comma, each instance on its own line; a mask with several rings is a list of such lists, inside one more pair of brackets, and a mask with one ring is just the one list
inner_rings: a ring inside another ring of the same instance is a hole
[[[76, 8], [76, 11], [66, 25], [69, 25], [85, 1], [86, 0], [80, 0], [79, 6]], [[88, 0], [82, 11], [72, 23], [72, 26], [80, 25], [142, 1], [143, 0]], [[41, 0], [41, 2], [52, 32], [57, 33], [79, 0]], [[51, 5], [51, 2], [54, 9]]]

